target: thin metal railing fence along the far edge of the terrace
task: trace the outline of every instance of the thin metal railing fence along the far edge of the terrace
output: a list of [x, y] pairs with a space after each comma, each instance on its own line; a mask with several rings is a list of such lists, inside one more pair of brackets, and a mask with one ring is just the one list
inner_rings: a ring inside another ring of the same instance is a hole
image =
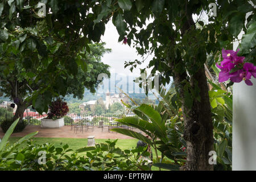
[[[0, 122], [3, 120], [11, 120], [13, 119], [14, 114], [6, 113], [0, 114]], [[36, 113], [24, 113], [23, 121], [27, 122], [28, 125], [41, 125], [41, 119], [46, 118], [47, 114], [36, 114]], [[72, 125], [73, 123], [77, 123], [81, 121], [81, 119], [85, 119], [90, 123], [94, 123], [94, 126], [99, 125], [99, 121], [103, 121], [103, 125], [109, 125], [109, 121], [115, 119], [114, 117], [105, 117], [105, 116], [97, 116], [97, 115], [85, 115], [85, 114], [67, 114], [64, 116], [65, 125]]]

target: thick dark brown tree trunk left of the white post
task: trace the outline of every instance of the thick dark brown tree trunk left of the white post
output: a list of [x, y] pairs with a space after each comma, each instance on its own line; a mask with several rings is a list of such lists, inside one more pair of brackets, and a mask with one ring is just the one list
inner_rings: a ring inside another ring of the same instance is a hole
[[[187, 74], [175, 73], [175, 85], [180, 85], [185, 75]], [[209, 164], [209, 152], [213, 150], [213, 123], [204, 68], [191, 76], [192, 88], [195, 88], [196, 84], [200, 88], [201, 99], [197, 101], [193, 98], [192, 108], [188, 108], [184, 103], [182, 86], [179, 92], [185, 126], [184, 139], [187, 142], [187, 162], [181, 170], [213, 170], [213, 165]]]

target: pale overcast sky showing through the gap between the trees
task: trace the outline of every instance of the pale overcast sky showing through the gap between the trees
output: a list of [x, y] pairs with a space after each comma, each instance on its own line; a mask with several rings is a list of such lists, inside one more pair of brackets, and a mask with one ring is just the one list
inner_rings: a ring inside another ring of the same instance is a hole
[[[203, 16], [197, 16], [193, 15], [193, 19], [196, 21], [198, 18], [201, 20], [204, 20], [205, 23], [208, 21], [205, 20], [207, 18], [207, 15], [203, 13]], [[153, 22], [153, 19], [147, 20], [146, 24]], [[110, 90], [112, 92], [113, 86], [115, 85], [114, 80], [120, 80], [117, 86], [119, 88], [123, 88], [121, 85], [126, 85], [126, 76], [132, 76], [132, 77], [138, 77], [140, 76], [140, 69], [139, 68], [146, 68], [149, 61], [154, 57], [154, 55], [149, 55], [147, 59], [144, 61], [142, 65], [137, 65], [137, 68], [133, 69], [133, 72], [130, 72], [130, 67], [125, 68], [125, 61], [134, 61], [135, 59], [142, 61], [143, 58], [139, 55], [137, 55], [137, 51], [135, 48], [133, 48], [133, 41], [131, 42], [131, 47], [128, 46], [128, 44], [122, 44], [122, 42], [118, 43], [118, 32], [115, 26], [113, 25], [112, 21], [110, 20], [108, 24], [106, 24], [106, 30], [104, 36], [101, 37], [102, 42], [106, 43], [106, 48], [111, 48], [111, 53], [106, 53], [102, 57], [102, 62], [105, 64], [110, 65], [110, 73], [112, 74], [112, 78], [110, 78], [111, 85], [108, 84], [108, 80], [104, 80], [102, 84], [107, 86], [99, 86], [98, 91], [101, 89], [102, 92], [106, 92], [107, 90]], [[145, 55], [146, 57], [147, 55]], [[152, 69], [152, 68], [151, 68]], [[147, 73], [149, 74], [151, 69], [147, 69]], [[119, 76], [118, 78], [113, 78], [113, 76], [117, 73]], [[123, 78], [120, 78], [123, 77]], [[129, 81], [130, 82], [130, 81]], [[108, 86], [109, 85], [109, 86]], [[136, 84], [137, 85], [137, 84]], [[101, 89], [100, 89], [101, 88]], [[129, 88], [130, 89], [130, 88]], [[133, 89], [132, 89], [133, 90]]]

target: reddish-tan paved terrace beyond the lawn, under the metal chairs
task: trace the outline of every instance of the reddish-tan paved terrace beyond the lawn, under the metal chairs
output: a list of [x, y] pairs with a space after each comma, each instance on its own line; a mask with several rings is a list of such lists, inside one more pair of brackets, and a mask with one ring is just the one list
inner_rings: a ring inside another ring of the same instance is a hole
[[[134, 139], [126, 135], [114, 133], [113, 131], [108, 132], [108, 127], [104, 127], [102, 131], [101, 128], [94, 126], [94, 131], [89, 129], [82, 133], [80, 130], [75, 133], [74, 128], [71, 130], [71, 126], [63, 126], [59, 129], [42, 129], [40, 126], [28, 125], [22, 132], [14, 133], [11, 137], [24, 137], [25, 135], [39, 131], [35, 137], [49, 137], [49, 138], [87, 138], [90, 135], [95, 136], [96, 139]], [[133, 131], [139, 132], [138, 129], [133, 129]], [[5, 135], [0, 127], [0, 137]]]

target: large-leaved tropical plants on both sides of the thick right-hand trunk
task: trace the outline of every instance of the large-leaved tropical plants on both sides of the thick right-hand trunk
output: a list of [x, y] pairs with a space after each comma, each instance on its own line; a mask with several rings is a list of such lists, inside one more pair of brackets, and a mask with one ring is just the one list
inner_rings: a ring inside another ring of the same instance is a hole
[[[220, 86], [209, 81], [213, 86], [209, 90], [214, 135], [214, 151], [216, 151], [216, 164], [214, 170], [232, 169], [232, 95], [222, 90]], [[131, 106], [139, 118], [124, 117], [116, 119], [123, 125], [136, 127], [143, 131], [149, 138], [135, 131], [127, 129], [112, 129], [118, 133], [137, 138], [154, 148], [156, 162], [154, 166], [169, 170], [178, 170], [187, 162], [187, 144], [184, 140], [184, 118], [183, 111], [177, 101], [173, 89], [168, 92], [160, 88], [159, 105], [150, 106], [142, 104]], [[160, 154], [159, 152], [160, 151]], [[161, 156], [161, 157], [159, 157]], [[164, 163], [164, 157], [171, 159], [172, 163]], [[209, 156], [210, 158], [210, 156]]]

